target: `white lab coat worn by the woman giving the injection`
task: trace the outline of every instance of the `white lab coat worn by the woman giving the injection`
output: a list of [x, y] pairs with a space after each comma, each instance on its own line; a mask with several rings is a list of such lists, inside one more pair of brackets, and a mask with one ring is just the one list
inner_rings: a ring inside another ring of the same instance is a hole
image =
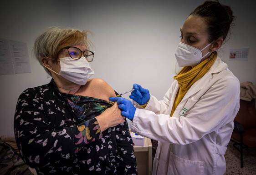
[[239, 80], [217, 57], [170, 117], [178, 89], [174, 80], [164, 100], [151, 95], [145, 109], [133, 102], [137, 109], [132, 131], [159, 141], [153, 175], [223, 175], [224, 154], [240, 107]]

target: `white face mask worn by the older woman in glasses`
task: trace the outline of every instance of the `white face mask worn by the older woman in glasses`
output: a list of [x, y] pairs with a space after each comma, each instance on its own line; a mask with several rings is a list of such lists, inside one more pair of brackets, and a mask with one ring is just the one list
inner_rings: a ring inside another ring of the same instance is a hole
[[94, 71], [85, 57], [81, 57], [79, 60], [74, 60], [70, 57], [60, 58], [59, 60], [61, 64], [59, 73], [49, 69], [45, 65], [43, 66], [77, 85], [85, 85], [87, 80], [94, 75]]

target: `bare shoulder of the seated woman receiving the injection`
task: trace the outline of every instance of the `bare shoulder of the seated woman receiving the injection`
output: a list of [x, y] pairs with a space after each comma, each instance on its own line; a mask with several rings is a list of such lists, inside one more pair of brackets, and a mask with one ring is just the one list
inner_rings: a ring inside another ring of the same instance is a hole
[[109, 97], [115, 96], [115, 91], [113, 88], [103, 79], [94, 78], [90, 80], [90, 85], [94, 90], [100, 91]]

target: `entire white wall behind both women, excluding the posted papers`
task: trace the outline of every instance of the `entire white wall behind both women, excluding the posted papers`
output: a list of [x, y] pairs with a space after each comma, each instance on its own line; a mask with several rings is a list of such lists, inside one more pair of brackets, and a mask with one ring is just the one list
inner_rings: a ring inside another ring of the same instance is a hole
[[[16, 1], [13, 1], [16, 2]], [[4, 2], [0, 11], [6, 16], [0, 38], [23, 41], [29, 53], [36, 36], [48, 26], [61, 25], [92, 30], [90, 36], [95, 60], [93, 77], [106, 80], [115, 90], [130, 90], [133, 83], [148, 88], [161, 99], [171, 85], [174, 51], [179, 42], [179, 28], [202, 0], [45, 0], [14, 4]], [[241, 82], [256, 85], [255, 16], [253, 0], [222, 0], [237, 16], [229, 42], [220, 55]], [[25, 11], [23, 11], [25, 8]], [[250, 47], [248, 61], [229, 61], [229, 48]], [[13, 115], [18, 96], [28, 87], [46, 84], [43, 68], [30, 54], [31, 73], [0, 75], [3, 100], [0, 102], [0, 135], [13, 133]], [[128, 95], [125, 95], [128, 97]]]

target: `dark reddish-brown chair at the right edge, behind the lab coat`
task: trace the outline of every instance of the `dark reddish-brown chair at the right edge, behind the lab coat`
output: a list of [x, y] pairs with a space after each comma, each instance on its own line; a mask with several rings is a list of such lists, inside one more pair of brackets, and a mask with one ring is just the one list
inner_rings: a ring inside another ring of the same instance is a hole
[[[256, 147], [256, 109], [255, 99], [240, 100], [240, 109], [234, 120], [235, 128], [231, 140], [233, 146], [240, 151], [240, 163], [243, 168], [243, 149]], [[239, 147], [238, 147], [239, 145]]]

